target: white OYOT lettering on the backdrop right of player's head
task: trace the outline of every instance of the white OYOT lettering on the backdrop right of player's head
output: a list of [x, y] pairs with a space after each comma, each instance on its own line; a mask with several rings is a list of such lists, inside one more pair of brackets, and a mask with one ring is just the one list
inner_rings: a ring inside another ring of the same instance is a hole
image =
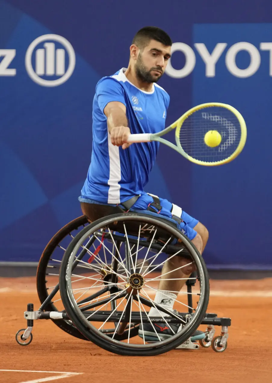
[[[224, 54], [226, 69], [235, 77], [245, 78], [253, 76], [261, 65], [260, 51], [265, 51], [269, 60], [267, 75], [272, 76], [272, 43], [260, 43], [255, 46], [246, 41], [241, 41], [228, 46], [227, 43], [217, 43], [212, 52], [209, 52], [204, 43], [195, 43], [193, 47], [185, 43], [174, 43], [171, 48], [172, 57], [175, 52], [182, 52], [185, 56], [185, 64], [182, 68], [174, 68], [169, 59], [165, 73], [175, 79], [181, 79], [192, 73], [196, 60], [202, 59], [205, 64], [205, 76], [216, 76], [216, 63]], [[249, 55], [249, 65], [241, 69], [236, 65], [236, 56], [239, 52], [245, 51]], [[171, 58], [172, 58], [171, 57]]]

